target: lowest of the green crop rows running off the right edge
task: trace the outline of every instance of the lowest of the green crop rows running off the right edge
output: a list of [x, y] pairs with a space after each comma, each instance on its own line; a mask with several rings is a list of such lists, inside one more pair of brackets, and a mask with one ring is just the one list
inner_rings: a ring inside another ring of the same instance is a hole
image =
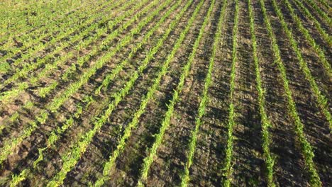
[[[286, 4], [287, 4], [287, 2], [286, 2]], [[289, 28], [287, 27], [287, 23], [284, 21], [280, 7], [277, 5], [277, 2], [275, 0], [272, 0], [272, 6], [275, 8], [277, 16], [282, 24], [282, 28], [284, 29], [284, 32], [286, 33], [287, 38], [289, 39], [289, 42], [291, 43], [292, 48], [293, 48], [295, 54], [297, 55], [297, 59], [299, 60], [299, 65], [304, 73], [304, 76], [306, 77], [306, 80], [309, 81], [309, 84], [311, 86], [311, 91], [314, 92], [314, 95], [317, 98], [319, 108], [321, 108], [321, 113], [323, 113], [323, 115], [325, 115], [326, 120], [328, 120], [329, 128], [330, 128], [330, 130], [332, 130], [332, 115], [328, 111], [328, 99], [319, 90], [319, 87], [316, 84], [316, 80], [312, 76], [308, 65], [306, 64], [306, 62], [304, 61], [304, 59], [301, 55], [301, 50], [299, 50], [297, 41], [294, 39], [292, 30], [289, 30]], [[309, 38], [306, 38], [306, 39], [309, 39]], [[327, 61], [326, 61], [326, 63], [328, 64]], [[326, 71], [331, 73], [331, 69], [326, 69]], [[331, 74], [329, 74], [329, 75], [331, 75]]]

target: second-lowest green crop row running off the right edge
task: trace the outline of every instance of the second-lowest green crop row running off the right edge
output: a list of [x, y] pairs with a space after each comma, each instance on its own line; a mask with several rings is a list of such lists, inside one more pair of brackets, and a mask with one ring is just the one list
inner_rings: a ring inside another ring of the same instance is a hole
[[[316, 52], [316, 54], [319, 56], [319, 60], [321, 61], [321, 64], [323, 64], [325, 71], [327, 72], [328, 76], [331, 78], [332, 77], [331, 64], [326, 60], [323, 50], [321, 49], [321, 47], [318, 44], [316, 44], [314, 38], [311, 37], [309, 31], [306, 28], [304, 28], [304, 26], [301, 23], [301, 19], [299, 18], [299, 16], [297, 16], [294, 9], [292, 8], [292, 5], [289, 4], [289, 1], [288, 0], [283, 0], [283, 1], [284, 1], [284, 4], [286, 4], [289, 12], [291, 13], [292, 19], [297, 24], [297, 28], [299, 28], [302, 35], [304, 35], [304, 38], [306, 39], [306, 41], [309, 43], [309, 45], [311, 45], [311, 48], [313, 48], [314, 51]], [[278, 9], [280, 9], [280, 8], [278, 8]], [[284, 22], [284, 21], [282, 21], [282, 22]], [[287, 27], [287, 24], [286, 24], [286, 27]]]

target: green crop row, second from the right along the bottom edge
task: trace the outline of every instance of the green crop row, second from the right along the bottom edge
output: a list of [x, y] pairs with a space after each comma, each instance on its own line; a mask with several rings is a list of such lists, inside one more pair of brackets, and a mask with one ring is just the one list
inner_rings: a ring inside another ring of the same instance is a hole
[[260, 62], [258, 61], [258, 51], [257, 51], [257, 41], [255, 35], [255, 20], [253, 14], [253, 6], [251, 5], [251, 0], [248, 0], [248, 10], [250, 17], [250, 35], [253, 46], [253, 62], [255, 63], [255, 74], [256, 74], [256, 88], [258, 91], [258, 105], [260, 108], [260, 120], [262, 123], [262, 149], [265, 158], [266, 170], [267, 170], [267, 186], [275, 186], [273, 181], [273, 166], [275, 165], [275, 159], [272, 157], [270, 152], [270, 133], [269, 128], [271, 127], [271, 122], [267, 117], [265, 111], [265, 93], [262, 86], [262, 79], [260, 76]]

